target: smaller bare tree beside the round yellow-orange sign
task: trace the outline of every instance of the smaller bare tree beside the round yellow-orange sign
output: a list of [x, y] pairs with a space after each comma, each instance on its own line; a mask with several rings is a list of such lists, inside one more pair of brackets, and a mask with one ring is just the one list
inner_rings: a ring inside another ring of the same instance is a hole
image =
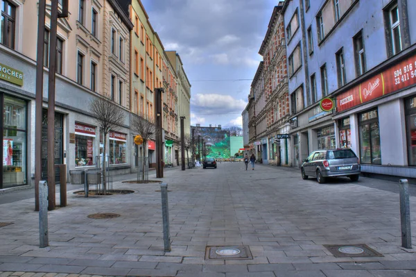
[[130, 123], [130, 128], [132, 128], [132, 131], [134, 133], [137, 133], [137, 135], [141, 135], [141, 138], [143, 139], [143, 146], [141, 147], [141, 157], [143, 158], [142, 164], [142, 177], [141, 181], [144, 183], [144, 171], [145, 171], [145, 158], [146, 158], [146, 145], [149, 140], [155, 138], [155, 131], [156, 126], [155, 122], [151, 117], [148, 117], [146, 115], [142, 115], [141, 117], [137, 115], [132, 115], [132, 121]]

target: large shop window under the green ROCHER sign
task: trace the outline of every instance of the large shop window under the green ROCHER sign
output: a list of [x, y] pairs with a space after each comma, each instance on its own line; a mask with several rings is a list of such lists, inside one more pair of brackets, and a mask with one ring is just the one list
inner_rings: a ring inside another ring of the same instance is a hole
[[26, 102], [4, 96], [3, 120], [3, 182], [0, 189], [27, 183]]

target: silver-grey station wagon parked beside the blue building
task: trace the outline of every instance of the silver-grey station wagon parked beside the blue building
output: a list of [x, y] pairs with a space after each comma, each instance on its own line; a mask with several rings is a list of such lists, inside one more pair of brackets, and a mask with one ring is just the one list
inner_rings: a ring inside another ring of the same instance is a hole
[[329, 149], [313, 151], [303, 160], [302, 179], [316, 177], [318, 183], [325, 183], [327, 177], [347, 176], [358, 181], [361, 173], [360, 160], [351, 149]]

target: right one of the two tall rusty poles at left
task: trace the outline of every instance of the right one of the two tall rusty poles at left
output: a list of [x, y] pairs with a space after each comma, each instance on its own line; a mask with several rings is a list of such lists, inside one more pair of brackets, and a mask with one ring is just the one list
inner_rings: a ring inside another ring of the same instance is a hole
[[49, 210], [55, 210], [55, 72], [56, 29], [58, 27], [58, 0], [51, 1], [51, 33], [49, 46], [48, 85], [48, 185]]

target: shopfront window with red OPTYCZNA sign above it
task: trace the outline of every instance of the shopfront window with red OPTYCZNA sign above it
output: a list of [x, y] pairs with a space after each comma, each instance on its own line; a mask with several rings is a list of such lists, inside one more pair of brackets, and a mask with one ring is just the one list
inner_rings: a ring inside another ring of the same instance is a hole
[[96, 128], [80, 122], [75, 122], [75, 166], [87, 167], [96, 164], [98, 156], [94, 149]]

